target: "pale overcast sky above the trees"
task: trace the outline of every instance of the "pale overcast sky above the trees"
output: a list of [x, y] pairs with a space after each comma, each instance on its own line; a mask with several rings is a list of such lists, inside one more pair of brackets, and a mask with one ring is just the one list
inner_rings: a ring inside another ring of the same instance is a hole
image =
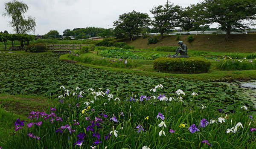
[[[4, 4], [0, 0], [0, 31], [14, 33], [8, 17], [3, 17]], [[19, 0], [20, 1], [20, 0]], [[175, 5], [187, 7], [202, 0], [169, 0]], [[35, 34], [44, 35], [50, 30], [63, 34], [65, 29], [89, 26], [111, 28], [119, 15], [133, 10], [150, 14], [154, 6], [164, 5], [167, 0], [23, 0], [29, 7], [25, 17], [35, 17]], [[213, 26], [217, 27], [217, 25]], [[32, 33], [31, 33], [32, 34]]]

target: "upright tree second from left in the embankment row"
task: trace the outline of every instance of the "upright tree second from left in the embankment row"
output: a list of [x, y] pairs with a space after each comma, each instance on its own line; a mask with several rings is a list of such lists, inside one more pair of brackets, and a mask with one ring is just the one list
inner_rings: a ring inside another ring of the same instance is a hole
[[154, 14], [151, 25], [160, 32], [160, 39], [163, 38], [163, 34], [177, 26], [180, 6], [174, 6], [174, 4], [166, 3], [165, 6], [154, 7], [150, 12]]

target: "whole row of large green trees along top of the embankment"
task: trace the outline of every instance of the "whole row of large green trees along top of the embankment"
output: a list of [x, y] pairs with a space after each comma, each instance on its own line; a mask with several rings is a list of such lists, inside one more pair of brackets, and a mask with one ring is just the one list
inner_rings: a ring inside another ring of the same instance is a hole
[[150, 12], [154, 15], [152, 18], [137, 11], [120, 15], [113, 22], [115, 36], [132, 40], [145, 31], [150, 32], [148, 26], [152, 26], [162, 39], [164, 33], [177, 27], [184, 31], [217, 30], [210, 29], [209, 25], [218, 23], [219, 29], [227, 32], [225, 39], [229, 39], [231, 31], [241, 32], [255, 25], [256, 0], [204, 0], [186, 8], [169, 4], [167, 0], [166, 5], [153, 7]]

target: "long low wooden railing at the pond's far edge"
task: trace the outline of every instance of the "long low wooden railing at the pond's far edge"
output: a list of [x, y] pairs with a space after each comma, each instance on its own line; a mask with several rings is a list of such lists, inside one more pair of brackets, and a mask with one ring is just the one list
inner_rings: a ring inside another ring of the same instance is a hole
[[90, 46], [86, 44], [53, 44], [53, 45], [46, 45], [49, 50], [81, 50], [82, 46]]

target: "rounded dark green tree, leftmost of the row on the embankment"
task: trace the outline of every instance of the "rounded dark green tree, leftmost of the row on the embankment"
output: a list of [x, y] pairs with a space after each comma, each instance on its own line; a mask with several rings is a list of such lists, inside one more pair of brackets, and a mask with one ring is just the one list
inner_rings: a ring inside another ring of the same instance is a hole
[[150, 17], [148, 14], [132, 11], [119, 15], [119, 19], [113, 22], [113, 26], [115, 26], [114, 32], [118, 38], [129, 37], [132, 40], [134, 36], [140, 34], [142, 28], [147, 26], [149, 22]]

